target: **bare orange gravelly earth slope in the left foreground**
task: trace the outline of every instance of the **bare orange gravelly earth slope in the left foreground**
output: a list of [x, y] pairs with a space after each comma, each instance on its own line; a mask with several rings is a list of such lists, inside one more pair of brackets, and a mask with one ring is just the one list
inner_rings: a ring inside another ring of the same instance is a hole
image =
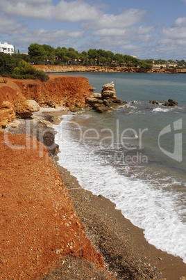
[[47, 148], [0, 132], [0, 155], [0, 278], [41, 279], [63, 256], [104, 267]]

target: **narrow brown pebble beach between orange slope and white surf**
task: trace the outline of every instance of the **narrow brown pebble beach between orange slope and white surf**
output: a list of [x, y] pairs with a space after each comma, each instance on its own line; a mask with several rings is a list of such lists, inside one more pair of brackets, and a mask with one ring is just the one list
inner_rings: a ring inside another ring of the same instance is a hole
[[[50, 123], [58, 124], [59, 116], [62, 117], [63, 113], [65, 111], [60, 109], [49, 109], [41, 115]], [[35, 115], [38, 114], [40, 111]], [[38, 120], [36, 123], [38, 125]], [[46, 123], [37, 127], [44, 130]], [[18, 128], [18, 134], [20, 130]], [[51, 130], [54, 133], [53, 128]], [[108, 199], [83, 189], [67, 169], [58, 165], [58, 150], [52, 153], [53, 162], [60, 171], [65, 187], [69, 189], [74, 210], [85, 226], [87, 237], [103, 256], [107, 270], [117, 279], [139, 279], [135, 277], [142, 275], [143, 279], [185, 279], [183, 277], [186, 277], [186, 265], [183, 260], [149, 244], [144, 238], [142, 228], [133, 226], [121, 211], [115, 210], [115, 204]]]

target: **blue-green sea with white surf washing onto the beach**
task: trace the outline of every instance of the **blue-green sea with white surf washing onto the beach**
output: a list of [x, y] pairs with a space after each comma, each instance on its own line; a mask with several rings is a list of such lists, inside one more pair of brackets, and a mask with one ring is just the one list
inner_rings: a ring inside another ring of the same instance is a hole
[[[112, 81], [128, 103], [110, 114], [63, 115], [54, 126], [58, 163], [83, 188], [115, 203], [150, 244], [186, 263], [186, 75], [61, 75], [87, 77], [94, 93]], [[169, 99], [178, 107], [164, 107]]]

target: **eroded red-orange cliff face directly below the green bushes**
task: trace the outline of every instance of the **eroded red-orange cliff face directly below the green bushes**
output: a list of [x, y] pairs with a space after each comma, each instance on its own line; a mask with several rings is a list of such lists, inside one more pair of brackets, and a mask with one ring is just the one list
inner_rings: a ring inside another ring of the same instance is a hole
[[0, 129], [15, 117], [29, 117], [33, 112], [31, 102], [41, 107], [85, 107], [94, 88], [85, 77], [51, 76], [42, 83], [33, 80], [7, 79], [0, 83]]

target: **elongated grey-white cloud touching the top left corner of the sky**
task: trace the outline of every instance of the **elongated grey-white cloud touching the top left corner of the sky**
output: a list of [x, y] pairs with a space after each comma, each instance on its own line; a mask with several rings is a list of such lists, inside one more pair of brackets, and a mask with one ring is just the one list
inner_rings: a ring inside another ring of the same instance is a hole
[[94, 6], [82, 0], [71, 2], [61, 0], [57, 6], [53, 5], [51, 0], [8, 0], [3, 1], [0, 6], [1, 10], [8, 15], [61, 22], [90, 20], [100, 14]]

